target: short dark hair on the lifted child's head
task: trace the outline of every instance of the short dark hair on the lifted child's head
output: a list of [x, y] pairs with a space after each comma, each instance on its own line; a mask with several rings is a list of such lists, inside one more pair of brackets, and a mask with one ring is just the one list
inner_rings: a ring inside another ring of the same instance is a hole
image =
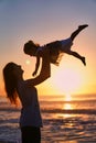
[[23, 51], [25, 54], [29, 54], [30, 51], [35, 51], [40, 45], [34, 43], [33, 41], [29, 41], [24, 44]]

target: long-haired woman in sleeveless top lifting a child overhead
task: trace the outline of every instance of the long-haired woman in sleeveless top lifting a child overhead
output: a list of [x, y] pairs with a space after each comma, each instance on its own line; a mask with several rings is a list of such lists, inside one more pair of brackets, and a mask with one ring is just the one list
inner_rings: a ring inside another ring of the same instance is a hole
[[[45, 53], [49, 51], [45, 50]], [[23, 79], [23, 70], [20, 65], [8, 63], [3, 68], [4, 87], [7, 97], [12, 103], [17, 103], [19, 97], [22, 110], [20, 128], [22, 143], [40, 143], [42, 119], [38, 101], [38, 91], [34, 86], [50, 77], [49, 54], [43, 54], [40, 75], [33, 79]]]

